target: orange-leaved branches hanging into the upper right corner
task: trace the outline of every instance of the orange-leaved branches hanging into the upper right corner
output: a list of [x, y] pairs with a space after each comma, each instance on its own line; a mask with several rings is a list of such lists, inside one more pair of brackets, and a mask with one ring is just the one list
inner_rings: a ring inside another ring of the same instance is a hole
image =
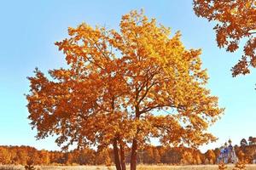
[[246, 41], [243, 55], [232, 68], [233, 77], [249, 73], [256, 67], [256, 1], [255, 0], [194, 0], [197, 16], [217, 21], [214, 27], [219, 48], [234, 52]]

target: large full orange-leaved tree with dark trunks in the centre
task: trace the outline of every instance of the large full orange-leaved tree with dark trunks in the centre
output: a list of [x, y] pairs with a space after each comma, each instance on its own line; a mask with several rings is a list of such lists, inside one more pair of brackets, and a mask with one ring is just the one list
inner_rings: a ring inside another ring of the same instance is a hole
[[150, 138], [195, 147], [215, 140], [206, 130], [223, 109], [205, 88], [201, 50], [184, 48], [179, 32], [170, 37], [170, 29], [137, 11], [119, 26], [69, 28], [69, 37], [55, 42], [67, 69], [49, 76], [36, 69], [28, 78], [28, 118], [38, 139], [56, 134], [64, 148], [113, 145], [117, 170], [125, 170], [127, 150], [136, 169], [137, 150]]

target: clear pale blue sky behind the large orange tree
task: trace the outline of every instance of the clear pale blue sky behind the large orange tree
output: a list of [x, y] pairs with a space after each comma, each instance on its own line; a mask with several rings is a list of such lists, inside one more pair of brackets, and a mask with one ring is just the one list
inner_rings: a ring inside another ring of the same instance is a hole
[[202, 48], [203, 67], [210, 77], [207, 87], [218, 96], [225, 113], [209, 129], [218, 142], [201, 150], [219, 147], [229, 138], [239, 144], [242, 138], [256, 136], [255, 71], [246, 77], [231, 77], [230, 68], [241, 56], [241, 50], [229, 54], [217, 47], [213, 23], [195, 16], [192, 0], [9, 0], [0, 5], [0, 145], [59, 150], [53, 138], [34, 138], [36, 131], [26, 118], [26, 77], [32, 76], [36, 66], [44, 72], [65, 66], [64, 55], [54, 42], [67, 37], [68, 26], [85, 22], [118, 28], [122, 14], [140, 8], [149, 18], [171, 27], [172, 33], [181, 31], [185, 47]]

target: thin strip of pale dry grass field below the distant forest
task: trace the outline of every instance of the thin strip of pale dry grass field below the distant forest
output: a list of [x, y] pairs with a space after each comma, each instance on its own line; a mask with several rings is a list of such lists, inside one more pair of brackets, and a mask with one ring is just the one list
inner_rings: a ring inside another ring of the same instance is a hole
[[[234, 165], [229, 165], [228, 170], [231, 170]], [[24, 170], [23, 166], [0, 166], [0, 170]], [[147, 166], [139, 165], [137, 170], [218, 170], [218, 165], [191, 165], [191, 166]], [[256, 170], [256, 165], [247, 165], [247, 170]], [[36, 170], [115, 170], [114, 167], [104, 166], [36, 166]], [[127, 167], [129, 170], [129, 167]]]

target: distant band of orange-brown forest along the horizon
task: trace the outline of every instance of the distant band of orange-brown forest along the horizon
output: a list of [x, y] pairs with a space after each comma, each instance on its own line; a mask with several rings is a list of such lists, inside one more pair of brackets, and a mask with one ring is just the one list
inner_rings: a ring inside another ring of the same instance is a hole
[[[253, 138], [251, 138], [253, 139]], [[253, 163], [256, 159], [256, 144], [241, 139], [240, 146], [235, 145], [239, 161]], [[138, 150], [137, 162], [143, 164], [215, 164], [220, 150], [200, 150], [186, 147], [146, 146]], [[125, 161], [130, 162], [129, 155]], [[0, 164], [26, 165], [32, 160], [35, 165], [110, 165], [113, 164], [113, 150], [96, 151], [91, 149], [72, 150], [68, 152], [37, 150], [30, 146], [0, 146]]]

